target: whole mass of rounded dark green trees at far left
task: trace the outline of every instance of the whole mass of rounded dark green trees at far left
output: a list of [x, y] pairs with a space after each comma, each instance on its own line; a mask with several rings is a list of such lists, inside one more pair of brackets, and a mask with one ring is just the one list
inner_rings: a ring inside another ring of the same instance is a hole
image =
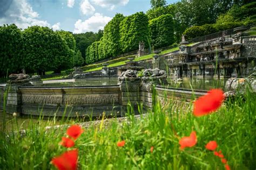
[[[76, 41], [70, 32], [54, 32], [48, 27], [31, 26], [22, 31], [15, 24], [0, 26], [1, 76], [10, 73], [44, 74], [72, 67]], [[8, 72], [8, 73], [7, 73]]]

